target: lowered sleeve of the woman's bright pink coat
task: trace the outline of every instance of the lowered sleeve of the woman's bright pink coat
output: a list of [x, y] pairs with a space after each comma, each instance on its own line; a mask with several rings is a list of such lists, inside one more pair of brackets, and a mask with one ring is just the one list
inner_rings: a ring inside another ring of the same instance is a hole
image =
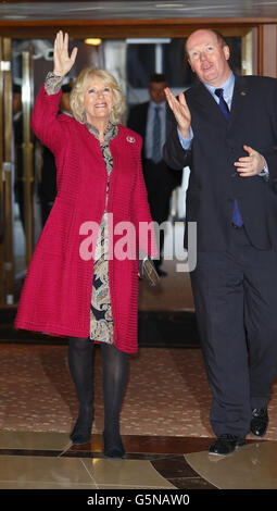
[[153, 220], [150, 213], [150, 208], [147, 198], [147, 188], [144, 184], [142, 166], [141, 166], [141, 137], [139, 138], [139, 150], [137, 153], [137, 173], [133, 203], [133, 219], [137, 233], [138, 248], [151, 258], [158, 256], [155, 232]]

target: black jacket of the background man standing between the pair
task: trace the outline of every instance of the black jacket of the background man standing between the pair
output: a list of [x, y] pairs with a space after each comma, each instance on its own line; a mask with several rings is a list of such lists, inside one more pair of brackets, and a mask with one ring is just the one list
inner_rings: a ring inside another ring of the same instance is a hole
[[169, 169], [163, 160], [155, 164], [146, 158], [148, 108], [149, 101], [133, 107], [127, 125], [142, 137], [142, 169], [151, 214], [153, 220], [163, 222], [168, 216], [172, 191], [180, 185], [182, 174]]

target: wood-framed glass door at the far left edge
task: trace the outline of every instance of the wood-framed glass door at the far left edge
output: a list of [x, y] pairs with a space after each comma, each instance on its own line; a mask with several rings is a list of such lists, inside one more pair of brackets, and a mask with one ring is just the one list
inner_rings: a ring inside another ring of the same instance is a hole
[[[14, 73], [13, 45], [0, 38], [0, 306], [17, 302], [34, 251], [32, 47]], [[15, 66], [16, 67], [16, 66]]]

